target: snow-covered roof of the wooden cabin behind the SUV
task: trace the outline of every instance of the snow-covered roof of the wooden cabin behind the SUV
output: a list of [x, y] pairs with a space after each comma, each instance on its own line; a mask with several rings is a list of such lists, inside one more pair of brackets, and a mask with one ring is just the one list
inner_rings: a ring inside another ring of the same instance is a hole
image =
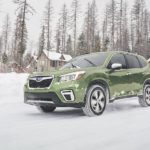
[[62, 61], [62, 57], [64, 57], [64, 59], [65, 59], [63, 61], [69, 61], [72, 59], [72, 57], [70, 55], [66, 55], [66, 54], [51, 52], [51, 51], [47, 51], [47, 50], [44, 50], [43, 52], [50, 60], [53, 60], [53, 61]]

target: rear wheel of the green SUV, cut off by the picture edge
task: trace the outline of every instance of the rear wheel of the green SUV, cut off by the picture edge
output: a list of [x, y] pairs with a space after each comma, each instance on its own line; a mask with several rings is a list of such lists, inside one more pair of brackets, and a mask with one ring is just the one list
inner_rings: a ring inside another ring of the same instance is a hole
[[150, 85], [144, 86], [143, 96], [139, 97], [139, 104], [142, 107], [150, 106]]

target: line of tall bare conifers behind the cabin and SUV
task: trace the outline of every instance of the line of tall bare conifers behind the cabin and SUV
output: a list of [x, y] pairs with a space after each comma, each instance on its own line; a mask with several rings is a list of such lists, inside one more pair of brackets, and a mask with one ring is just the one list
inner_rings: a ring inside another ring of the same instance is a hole
[[[13, 0], [13, 3], [17, 6], [16, 21], [12, 29], [6, 15], [0, 33], [0, 60], [4, 64], [15, 60], [26, 66], [32, 58], [31, 51], [27, 52], [27, 23], [36, 10], [29, 0]], [[135, 0], [131, 8], [126, 0], [110, 0], [103, 15], [99, 14], [96, 0], [86, 4], [85, 12], [79, 0], [72, 0], [69, 8], [63, 4], [55, 27], [54, 11], [52, 0], [47, 0], [37, 56], [46, 49], [73, 57], [99, 51], [127, 51], [150, 57], [150, 12], [145, 0]]]

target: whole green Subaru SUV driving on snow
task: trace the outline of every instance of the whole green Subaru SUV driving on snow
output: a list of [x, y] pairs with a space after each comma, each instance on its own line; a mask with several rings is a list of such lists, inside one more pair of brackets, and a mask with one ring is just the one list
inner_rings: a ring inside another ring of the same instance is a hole
[[25, 103], [43, 112], [75, 107], [87, 116], [101, 115], [114, 100], [137, 96], [141, 106], [150, 106], [150, 66], [126, 52], [79, 56], [54, 72], [31, 74], [24, 86]]

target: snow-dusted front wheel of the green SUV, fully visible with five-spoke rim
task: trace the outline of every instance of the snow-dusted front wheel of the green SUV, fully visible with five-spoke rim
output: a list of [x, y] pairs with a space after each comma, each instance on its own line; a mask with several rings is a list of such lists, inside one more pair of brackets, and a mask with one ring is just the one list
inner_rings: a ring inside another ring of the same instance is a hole
[[86, 93], [85, 106], [82, 109], [86, 116], [99, 116], [103, 114], [106, 103], [107, 98], [104, 88], [100, 85], [93, 85]]

